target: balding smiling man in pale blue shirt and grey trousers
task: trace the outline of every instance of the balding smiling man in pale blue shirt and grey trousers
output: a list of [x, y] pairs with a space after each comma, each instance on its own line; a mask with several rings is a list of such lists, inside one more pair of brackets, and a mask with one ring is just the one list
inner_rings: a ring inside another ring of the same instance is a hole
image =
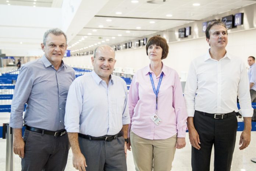
[[111, 75], [115, 52], [107, 45], [95, 50], [93, 71], [71, 84], [65, 128], [79, 171], [127, 171], [130, 123], [125, 81]]

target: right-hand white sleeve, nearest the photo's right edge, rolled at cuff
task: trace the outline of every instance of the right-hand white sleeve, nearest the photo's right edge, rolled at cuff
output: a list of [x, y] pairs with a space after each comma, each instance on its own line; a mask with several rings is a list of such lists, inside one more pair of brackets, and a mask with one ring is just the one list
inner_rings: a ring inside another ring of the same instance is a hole
[[246, 66], [243, 64], [241, 66], [241, 76], [240, 81], [238, 83], [238, 100], [240, 105], [239, 113], [242, 117], [252, 117], [253, 108], [252, 102], [250, 99], [250, 91], [249, 91], [249, 79], [246, 73]]

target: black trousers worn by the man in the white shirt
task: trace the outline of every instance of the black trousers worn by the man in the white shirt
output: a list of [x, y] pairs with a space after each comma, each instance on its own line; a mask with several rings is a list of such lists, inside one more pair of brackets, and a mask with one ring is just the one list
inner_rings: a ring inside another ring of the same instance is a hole
[[192, 147], [192, 171], [210, 171], [213, 145], [214, 171], [230, 171], [237, 135], [235, 112], [228, 118], [214, 119], [195, 111], [194, 125], [199, 134], [201, 148], [197, 150]]

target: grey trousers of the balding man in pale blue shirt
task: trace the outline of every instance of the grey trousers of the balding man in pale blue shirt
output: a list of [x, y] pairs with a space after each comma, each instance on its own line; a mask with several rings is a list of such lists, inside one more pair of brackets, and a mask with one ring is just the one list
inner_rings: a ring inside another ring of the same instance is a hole
[[86, 171], [127, 171], [124, 138], [110, 142], [78, 137], [79, 146], [86, 160]]

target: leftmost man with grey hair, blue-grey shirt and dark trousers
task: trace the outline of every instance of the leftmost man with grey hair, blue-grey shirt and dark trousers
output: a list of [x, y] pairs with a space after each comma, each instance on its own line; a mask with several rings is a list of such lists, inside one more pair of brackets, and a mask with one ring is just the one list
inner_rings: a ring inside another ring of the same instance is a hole
[[22, 66], [15, 85], [10, 118], [13, 150], [21, 157], [22, 171], [64, 171], [70, 148], [65, 102], [75, 71], [62, 61], [67, 49], [63, 31], [46, 31], [41, 48], [45, 54]]

